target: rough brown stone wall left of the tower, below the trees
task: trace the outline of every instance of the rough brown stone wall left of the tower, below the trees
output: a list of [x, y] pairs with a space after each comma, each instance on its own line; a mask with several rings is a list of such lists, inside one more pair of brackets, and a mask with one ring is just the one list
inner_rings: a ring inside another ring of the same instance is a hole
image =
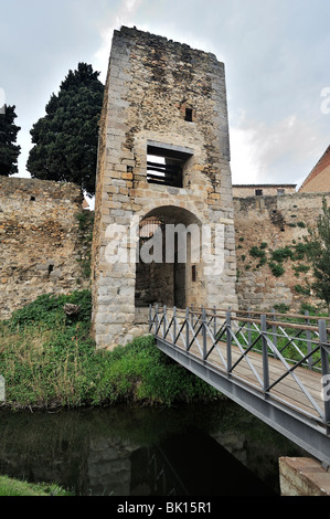
[[89, 286], [82, 201], [73, 183], [0, 177], [0, 319], [41, 294]]

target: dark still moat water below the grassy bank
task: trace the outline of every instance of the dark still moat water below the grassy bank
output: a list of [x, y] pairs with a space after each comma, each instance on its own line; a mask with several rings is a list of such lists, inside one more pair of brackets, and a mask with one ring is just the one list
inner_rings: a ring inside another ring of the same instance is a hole
[[291, 442], [232, 402], [0, 410], [0, 474], [79, 496], [276, 496]]

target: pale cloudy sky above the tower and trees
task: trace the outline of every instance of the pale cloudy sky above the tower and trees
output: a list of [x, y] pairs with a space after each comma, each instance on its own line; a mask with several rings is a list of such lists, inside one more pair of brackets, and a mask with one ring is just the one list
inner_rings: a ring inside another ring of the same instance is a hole
[[30, 129], [78, 62], [105, 82], [121, 25], [225, 63], [233, 183], [297, 183], [330, 144], [330, 0], [0, 0], [0, 93]]

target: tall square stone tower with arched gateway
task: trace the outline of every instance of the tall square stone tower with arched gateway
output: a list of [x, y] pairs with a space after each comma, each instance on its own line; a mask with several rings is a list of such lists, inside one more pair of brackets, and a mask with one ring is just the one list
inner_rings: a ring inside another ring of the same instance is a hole
[[93, 243], [98, 348], [126, 343], [150, 303], [236, 307], [224, 65], [137, 29], [114, 32]]

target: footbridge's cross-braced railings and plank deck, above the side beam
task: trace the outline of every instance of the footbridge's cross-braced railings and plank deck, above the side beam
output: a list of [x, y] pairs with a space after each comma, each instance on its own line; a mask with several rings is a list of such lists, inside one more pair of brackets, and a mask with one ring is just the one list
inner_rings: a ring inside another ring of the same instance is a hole
[[150, 306], [149, 330], [263, 398], [330, 425], [329, 319]]

